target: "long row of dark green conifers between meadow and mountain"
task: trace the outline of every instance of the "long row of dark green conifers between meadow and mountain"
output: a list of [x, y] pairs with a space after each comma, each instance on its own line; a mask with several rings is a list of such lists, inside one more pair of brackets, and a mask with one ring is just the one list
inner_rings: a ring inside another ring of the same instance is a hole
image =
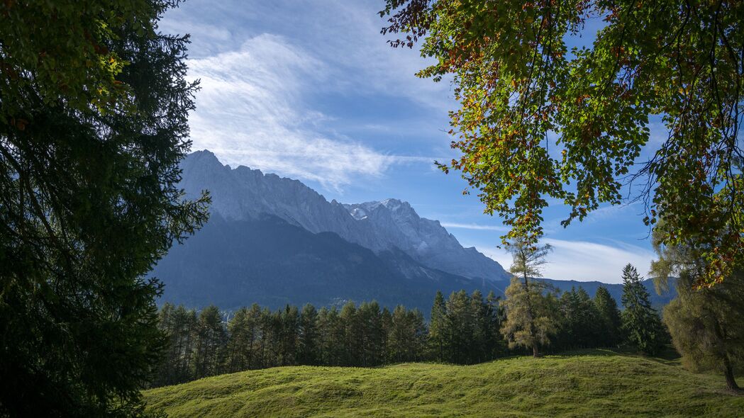
[[[638, 275], [626, 282], [625, 309], [620, 312], [604, 287], [594, 298], [582, 288], [559, 295], [541, 280], [528, 279], [540, 289], [539, 300], [533, 299], [535, 312], [544, 320], [539, 327], [549, 323], [539, 348], [558, 352], [633, 344], [648, 353], [658, 350], [665, 342], [658, 338], [665, 334], [658, 314]], [[515, 279], [510, 288], [515, 283], [521, 286]], [[437, 292], [429, 321], [418, 309], [399, 305], [391, 311], [374, 301], [320, 309], [287, 305], [274, 311], [254, 304], [231, 313], [217, 306], [197, 312], [165, 303], [159, 327], [167, 344], [150, 385], [289, 365], [475, 364], [523, 354], [532, 347], [518, 336], [523, 318], [517, 317], [525, 313], [516, 307], [521, 296], [510, 289], [506, 295], [504, 299], [490, 292], [484, 297], [476, 290], [444, 298]]]

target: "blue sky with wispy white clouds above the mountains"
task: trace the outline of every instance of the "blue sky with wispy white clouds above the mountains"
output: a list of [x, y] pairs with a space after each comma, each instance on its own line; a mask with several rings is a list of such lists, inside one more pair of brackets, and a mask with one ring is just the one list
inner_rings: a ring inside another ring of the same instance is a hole
[[[193, 150], [223, 164], [299, 179], [329, 201], [397, 198], [437, 219], [462, 245], [501, 263], [507, 231], [484, 214], [477, 192], [434, 160], [449, 161], [452, 84], [415, 77], [429, 60], [390, 48], [369, 0], [188, 0], [168, 10], [165, 33], [190, 33], [188, 78], [201, 80], [189, 123]], [[587, 25], [587, 42], [596, 25]], [[652, 142], [663, 135], [654, 129]], [[654, 254], [640, 204], [603, 207], [562, 228], [568, 209], [545, 210], [553, 247], [543, 276], [620, 283], [632, 263], [642, 274]]]

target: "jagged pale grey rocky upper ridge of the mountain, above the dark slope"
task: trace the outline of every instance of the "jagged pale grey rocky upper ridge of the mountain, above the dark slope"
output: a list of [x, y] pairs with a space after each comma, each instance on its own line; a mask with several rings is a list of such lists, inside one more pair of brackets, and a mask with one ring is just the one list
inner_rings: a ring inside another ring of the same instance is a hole
[[312, 233], [333, 232], [376, 253], [400, 249], [423, 266], [479, 280], [509, 277], [496, 261], [475, 248], [463, 248], [438, 221], [418, 216], [397, 199], [342, 205], [300, 181], [263, 174], [248, 167], [231, 169], [209, 151], [182, 162], [187, 196], [209, 190], [211, 211], [225, 219], [277, 216]]

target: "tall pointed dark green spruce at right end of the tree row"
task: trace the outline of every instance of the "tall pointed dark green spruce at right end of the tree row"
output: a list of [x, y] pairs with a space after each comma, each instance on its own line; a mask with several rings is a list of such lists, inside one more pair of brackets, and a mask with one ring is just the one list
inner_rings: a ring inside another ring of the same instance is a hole
[[623, 267], [623, 332], [643, 353], [654, 355], [664, 344], [664, 328], [651, 307], [649, 292], [632, 264]]

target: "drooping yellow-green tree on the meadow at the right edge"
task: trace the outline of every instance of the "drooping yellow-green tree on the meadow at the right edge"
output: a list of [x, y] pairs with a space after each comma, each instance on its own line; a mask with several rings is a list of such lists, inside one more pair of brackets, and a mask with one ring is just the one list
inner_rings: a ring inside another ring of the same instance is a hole
[[682, 364], [693, 371], [720, 371], [728, 388], [739, 391], [734, 367], [744, 365], [744, 272], [737, 270], [716, 286], [696, 288], [691, 283], [705, 270], [697, 251], [667, 247], [658, 239], [655, 251], [657, 284], [667, 287], [671, 274], [677, 275], [677, 297], [664, 307], [663, 317]]

